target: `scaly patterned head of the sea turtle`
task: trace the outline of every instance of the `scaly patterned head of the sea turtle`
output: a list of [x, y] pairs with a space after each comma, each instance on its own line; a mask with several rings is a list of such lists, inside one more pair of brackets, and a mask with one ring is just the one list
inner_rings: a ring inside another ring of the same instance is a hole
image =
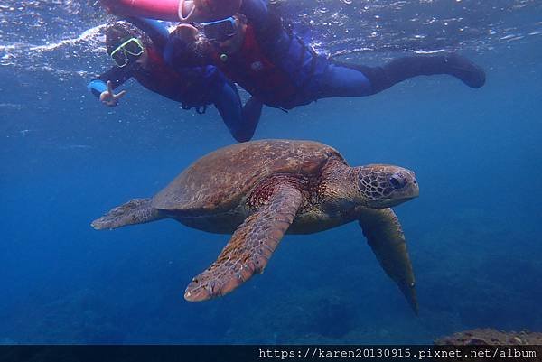
[[356, 168], [362, 203], [368, 208], [391, 208], [419, 195], [414, 172], [388, 164]]

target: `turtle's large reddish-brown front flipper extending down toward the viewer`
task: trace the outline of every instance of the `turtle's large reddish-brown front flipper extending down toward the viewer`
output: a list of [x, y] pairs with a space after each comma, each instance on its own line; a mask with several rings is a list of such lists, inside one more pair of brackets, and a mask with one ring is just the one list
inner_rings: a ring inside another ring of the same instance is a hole
[[190, 302], [205, 301], [233, 291], [256, 273], [267, 261], [294, 221], [302, 195], [289, 184], [276, 185], [267, 203], [237, 228], [218, 259], [192, 279], [184, 292]]

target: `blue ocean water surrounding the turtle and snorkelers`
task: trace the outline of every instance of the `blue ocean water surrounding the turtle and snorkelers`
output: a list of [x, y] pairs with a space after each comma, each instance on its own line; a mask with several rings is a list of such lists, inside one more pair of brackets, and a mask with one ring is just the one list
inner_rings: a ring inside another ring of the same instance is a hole
[[[304, 12], [302, 3], [280, 5], [299, 23], [343, 22], [313, 25], [324, 51], [378, 63], [453, 49], [486, 70], [485, 87], [438, 76], [288, 114], [266, 108], [255, 136], [318, 140], [351, 165], [416, 171], [420, 197], [396, 212], [417, 317], [355, 223], [286, 236], [264, 274], [223, 298], [185, 302], [185, 286], [227, 236], [173, 220], [100, 232], [89, 223], [231, 144], [216, 110], [182, 111], [135, 82], [119, 107], [103, 107], [86, 90], [108, 66], [100, 32], [85, 32], [105, 23], [99, 9], [2, 8], [0, 343], [430, 343], [479, 327], [542, 331], [542, 8], [491, 2], [496, 9], [481, 16], [472, 9], [487, 3], [422, 3], [367, 3], [365, 12], [348, 2], [311, 11], [304, 3]], [[434, 29], [446, 22], [453, 31]], [[369, 30], [377, 34], [361, 36]]]

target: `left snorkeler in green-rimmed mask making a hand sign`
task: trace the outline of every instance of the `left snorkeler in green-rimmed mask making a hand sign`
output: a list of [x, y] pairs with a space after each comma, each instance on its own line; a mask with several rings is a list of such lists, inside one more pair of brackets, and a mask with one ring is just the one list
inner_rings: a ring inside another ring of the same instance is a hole
[[236, 85], [214, 66], [173, 70], [164, 58], [169, 37], [164, 25], [140, 18], [128, 20], [131, 23], [117, 22], [107, 28], [107, 53], [115, 66], [89, 83], [89, 90], [102, 103], [117, 106], [126, 90], [116, 94], [114, 89], [133, 77], [145, 88], [180, 102], [182, 109], [193, 107], [202, 114], [214, 104], [238, 142], [252, 138], [261, 103], [252, 99], [242, 107]]

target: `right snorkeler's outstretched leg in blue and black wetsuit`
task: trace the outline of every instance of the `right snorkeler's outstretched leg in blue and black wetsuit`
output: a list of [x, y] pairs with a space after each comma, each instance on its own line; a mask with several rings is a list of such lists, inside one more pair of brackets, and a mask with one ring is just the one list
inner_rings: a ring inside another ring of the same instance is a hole
[[323, 76], [320, 97], [369, 96], [403, 80], [435, 74], [451, 75], [471, 88], [485, 83], [484, 71], [457, 54], [402, 57], [380, 67], [332, 61]]

